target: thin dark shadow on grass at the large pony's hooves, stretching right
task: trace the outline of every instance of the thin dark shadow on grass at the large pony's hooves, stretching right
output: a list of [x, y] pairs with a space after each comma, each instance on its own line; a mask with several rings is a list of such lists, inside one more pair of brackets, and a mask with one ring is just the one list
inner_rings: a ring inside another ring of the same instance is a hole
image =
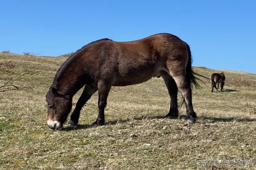
[[[176, 119], [186, 119], [186, 115], [180, 115], [179, 118]], [[141, 117], [135, 117], [133, 119], [126, 119], [126, 120], [114, 120], [114, 121], [109, 121], [105, 122], [104, 125], [115, 125], [119, 123], [126, 123], [129, 122], [130, 120], [145, 120], [145, 119], [170, 119], [167, 118], [166, 116], [146, 116], [143, 115]], [[237, 118], [218, 118], [218, 117], [205, 117], [205, 116], [198, 116], [199, 120], [206, 120], [211, 123], [216, 123], [216, 122], [233, 122], [234, 120], [237, 122], [256, 122], [256, 119], [250, 119], [250, 118], [245, 118], [245, 119], [237, 119]], [[186, 124], [186, 123], [184, 123]], [[96, 127], [95, 125], [91, 124], [82, 124], [82, 125], [77, 125], [73, 128], [62, 128], [61, 130], [63, 131], [72, 131], [72, 130], [79, 130], [79, 129], [87, 129], [87, 128], [94, 128]]]

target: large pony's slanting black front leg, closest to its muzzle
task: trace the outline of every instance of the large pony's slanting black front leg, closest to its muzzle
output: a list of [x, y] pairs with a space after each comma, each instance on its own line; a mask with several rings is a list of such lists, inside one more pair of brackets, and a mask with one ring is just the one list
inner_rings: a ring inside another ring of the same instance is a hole
[[84, 90], [82, 92], [82, 95], [80, 98], [77, 100], [75, 109], [70, 115], [70, 121], [68, 122], [68, 127], [72, 127], [77, 125], [78, 119], [80, 116], [80, 111], [84, 104], [93, 96], [93, 94], [97, 91], [98, 89], [96, 87], [90, 86], [90, 85], [85, 85]]

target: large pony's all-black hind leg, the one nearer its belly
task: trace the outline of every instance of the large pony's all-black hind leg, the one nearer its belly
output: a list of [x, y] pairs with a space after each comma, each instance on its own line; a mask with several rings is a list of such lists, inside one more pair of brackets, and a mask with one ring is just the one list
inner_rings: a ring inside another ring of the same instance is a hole
[[163, 81], [168, 89], [168, 93], [170, 95], [170, 110], [166, 115], [168, 118], [176, 118], [179, 116], [179, 111], [177, 108], [177, 95], [178, 95], [178, 87], [174, 81], [174, 79], [166, 72], [162, 74]]

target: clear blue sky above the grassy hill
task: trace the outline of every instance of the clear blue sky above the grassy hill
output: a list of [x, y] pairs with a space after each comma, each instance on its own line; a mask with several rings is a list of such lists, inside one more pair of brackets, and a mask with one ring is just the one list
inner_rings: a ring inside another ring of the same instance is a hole
[[1, 1], [0, 51], [57, 56], [91, 41], [167, 32], [186, 41], [194, 66], [256, 73], [255, 0]]

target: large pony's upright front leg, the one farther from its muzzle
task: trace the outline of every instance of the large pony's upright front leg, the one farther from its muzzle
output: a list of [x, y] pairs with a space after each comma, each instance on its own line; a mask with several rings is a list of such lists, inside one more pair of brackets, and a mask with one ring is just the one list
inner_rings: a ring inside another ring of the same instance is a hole
[[105, 122], [105, 116], [104, 116], [104, 109], [107, 105], [107, 98], [109, 95], [109, 91], [111, 88], [111, 84], [106, 81], [99, 81], [98, 83], [98, 93], [99, 93], [99, 99], [98, 99], [98, 117], [96, 121], [93, 123], [93, 125], [103, 125]]

